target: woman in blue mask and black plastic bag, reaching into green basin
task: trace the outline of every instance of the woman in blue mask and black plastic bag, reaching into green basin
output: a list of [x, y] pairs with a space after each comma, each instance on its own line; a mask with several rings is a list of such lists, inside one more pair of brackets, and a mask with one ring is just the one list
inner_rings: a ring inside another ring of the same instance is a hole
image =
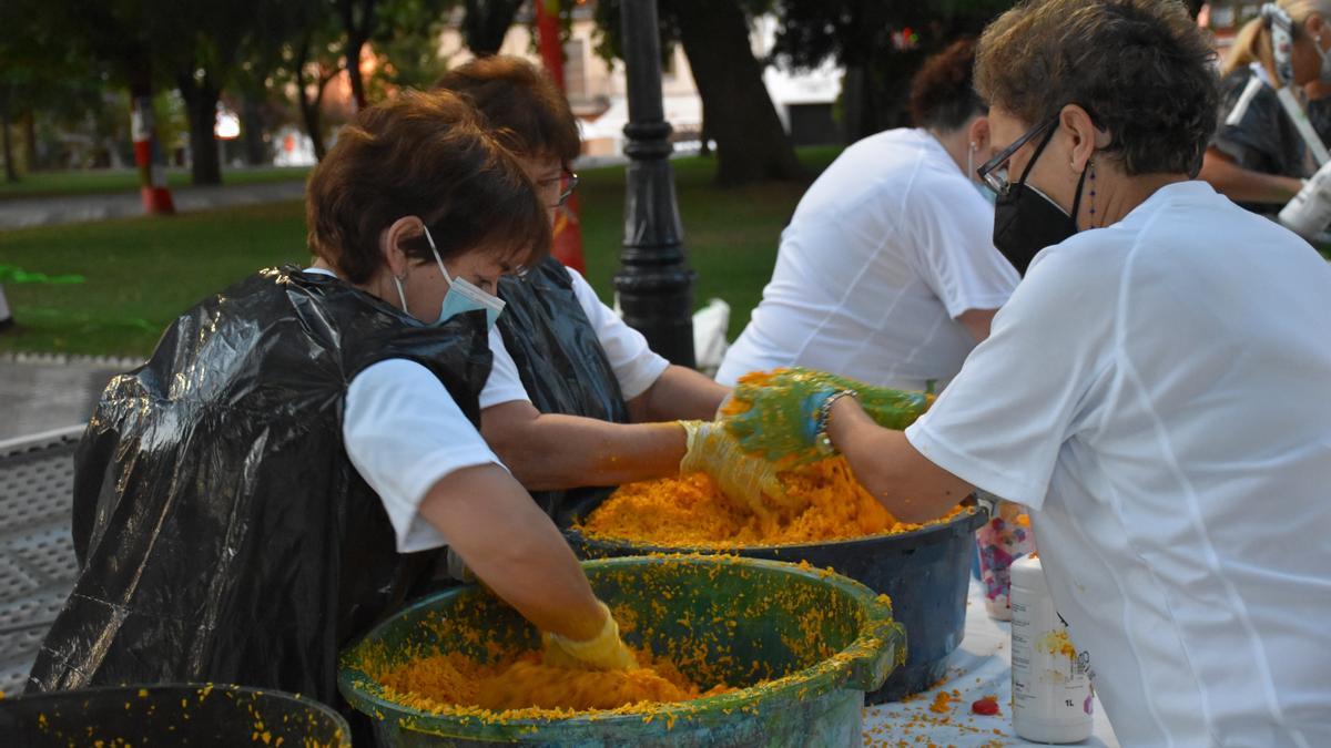
[[488, 294], [548, 250], [514, 158], [449, 93], [343, 128], [310, 176], [314, 268], [182, 314], [77, 454], [81, 575], [32, 689], [222, 681], [337, 703], [337, 652], [455, 550], [591, 667], [631, 659], [475, 429]]

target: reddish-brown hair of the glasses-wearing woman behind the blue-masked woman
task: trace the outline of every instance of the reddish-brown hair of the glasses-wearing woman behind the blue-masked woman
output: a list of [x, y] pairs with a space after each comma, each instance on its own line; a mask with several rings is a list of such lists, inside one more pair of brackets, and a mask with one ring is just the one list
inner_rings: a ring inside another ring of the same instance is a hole
[[449, 71], [435, 88], [476, 108], [504, 148], [518, 156], [552, 156], [564, 164], [582, 153], [578, 120], [544, 71], [520, 57], [479, 57]]

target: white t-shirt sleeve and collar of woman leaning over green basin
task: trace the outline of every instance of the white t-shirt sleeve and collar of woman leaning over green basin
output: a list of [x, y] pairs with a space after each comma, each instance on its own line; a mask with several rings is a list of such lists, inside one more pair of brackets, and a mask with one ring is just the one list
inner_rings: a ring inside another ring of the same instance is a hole
[[[306, 273], [333, 274], [317, 268]], [[357, 472], [383, 502], [401, 554], [449, 544], [419, 514], [431, 486], [466, 467], [503, 467], [443, 382], [403, 358], [367, 366], [351, 379], [342, 443]]]

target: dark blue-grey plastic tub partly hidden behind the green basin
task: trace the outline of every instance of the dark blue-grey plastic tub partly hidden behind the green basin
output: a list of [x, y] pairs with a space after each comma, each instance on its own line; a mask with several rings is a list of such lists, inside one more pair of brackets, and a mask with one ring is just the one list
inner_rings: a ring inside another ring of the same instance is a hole
[[[590, 512], [595, 507], [587, 507]], [[583, 515], [576, 516], [580, 520]], [[648, 554], [737, 554], [833, 568], [874, 592], [892, 598], [896, 620], [906, 630], [906, 664], [882, 688], [865, 695], [869, 704], [896, 701], [926, 691], [942, 680], [948, 655], [961, 644], [966, 628], [966, 590], [974, 531], [988, 520], [985, 510], [968, 506], [944, 524], [896, 535], [870, 535], [805, 546], [747, 546], [692, 548], [588, 538], [575, 528], [564, 535], [584, 559]]]

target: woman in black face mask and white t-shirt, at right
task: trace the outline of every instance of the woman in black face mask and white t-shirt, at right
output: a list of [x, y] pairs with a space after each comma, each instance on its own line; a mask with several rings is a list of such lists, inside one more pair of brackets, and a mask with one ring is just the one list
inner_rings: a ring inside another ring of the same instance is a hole
[[905, 433], [793, 375], [731, 427], [773, 458], [827, 435], [908, 522], [1029, 507], [1123, 745], [1331, 745], [1331, 268], [1193, 178], [1213, 57], [1175, 1], [1004, 13], [980, 173], [1033, 260], [993, 334]]

